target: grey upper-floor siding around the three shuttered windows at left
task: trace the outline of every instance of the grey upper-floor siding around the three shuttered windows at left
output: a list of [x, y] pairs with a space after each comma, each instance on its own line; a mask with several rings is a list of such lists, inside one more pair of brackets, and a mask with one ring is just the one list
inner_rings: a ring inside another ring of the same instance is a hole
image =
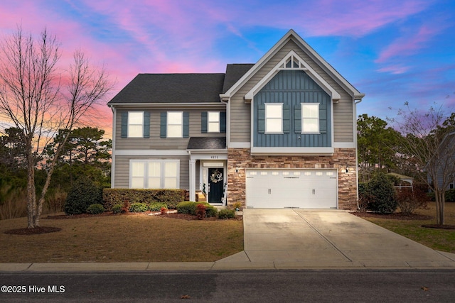
[[[149, 111], [150, 112], [150, 137], [149, 138], [122, 138], [122, 112]], [[225, 111], [219, 109], [117, 109], [117, 128], [115, 130], [116, 150], [186, 150], [189, 138], [160, 138], [160, 114], [163, 111], [185, 111], [189, 113], [189, 137], [225, 137], [225, 133], [201, 133], [201, 112]]]

